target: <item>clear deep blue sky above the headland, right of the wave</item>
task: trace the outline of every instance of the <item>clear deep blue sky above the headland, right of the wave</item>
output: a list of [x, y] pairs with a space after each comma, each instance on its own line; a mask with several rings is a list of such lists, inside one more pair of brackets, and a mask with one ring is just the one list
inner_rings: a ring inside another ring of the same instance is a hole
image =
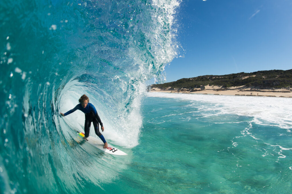
[[183, 0], [176, 20], [184, 57], [165, 67], [166, 82], [292, 69], [290, 0]]

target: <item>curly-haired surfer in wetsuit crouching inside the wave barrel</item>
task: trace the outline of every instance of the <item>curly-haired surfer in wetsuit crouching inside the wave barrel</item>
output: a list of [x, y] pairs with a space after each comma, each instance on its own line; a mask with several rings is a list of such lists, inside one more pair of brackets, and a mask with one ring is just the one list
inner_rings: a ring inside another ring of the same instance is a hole
[[102, 122], [97, 114], [97, 111], [93, 104], [89, 103], [89, 98], [83, 94], [79, 98], [79, 104], [77, 104], [73, 109], [69, 110], [66, 113], [61, 113], [60, 114], [65, 117], [68, 114], [71, 114], [72, 112], [76, 110], [81, 110], [85, 114], [85, 124], [84, 124], [84, 132], [85, 132], [85, 137], [84, 139], [87, 140], [87, 137], [89, 136], [89, 130], [91, 126], [91, 122], [93, 122], [95, 134], [102, 140], [102, 142], [105, 144], [103, 148], [107, 148], [107, 142], [105, 141], [105, 137], [99, 132], [99, 125], [101, 127], [101, 130], [105, 130], [105, 128], [102, 125]]

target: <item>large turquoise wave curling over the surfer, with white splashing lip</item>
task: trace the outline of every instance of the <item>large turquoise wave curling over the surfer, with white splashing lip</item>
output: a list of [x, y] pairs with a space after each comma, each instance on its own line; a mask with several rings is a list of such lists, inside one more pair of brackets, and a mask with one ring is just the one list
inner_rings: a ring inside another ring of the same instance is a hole
[[1, 2], [2, 193], [76, 192], [81, 182], [102, 188], [116, 176], [109, 162], [88, 178], [85, 172], [107, 156], [90, 160], [93, 151], [76, 146], [72, 130], [83, 129], [84, 116], [63, 119], [59, 112], [87, 94], [106, 139], [136, 146], [144, 83], [161, 79], [177, 54], [177, 6], [177, 0]]

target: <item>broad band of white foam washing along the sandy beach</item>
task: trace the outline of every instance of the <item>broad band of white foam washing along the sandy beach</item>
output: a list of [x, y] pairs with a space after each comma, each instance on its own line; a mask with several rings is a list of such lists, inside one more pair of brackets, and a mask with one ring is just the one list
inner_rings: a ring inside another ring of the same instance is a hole
[[[253, 117], [259, 125], [292, 128], [292, 99], [261, 96], [224, 96], [204, 94], [170, 94], [162, 92], [147, 93], [150, 97], [188, 100], [206, 117], [211, 114], [236, 114]], [[212, 111], [212, 113], [210, 113]], [[264, 121], [264, 122], [263, 122]]]

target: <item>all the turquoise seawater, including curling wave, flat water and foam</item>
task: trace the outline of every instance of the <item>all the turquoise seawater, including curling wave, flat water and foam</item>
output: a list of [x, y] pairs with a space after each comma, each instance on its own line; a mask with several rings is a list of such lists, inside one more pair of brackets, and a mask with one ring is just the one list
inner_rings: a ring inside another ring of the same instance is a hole
[[[179, 55], [179, 3], [0, 1], [0, 193], [291, 191], [291, 98], [145, 92]], [[83, 94], [127, 156], [60, 117]]]

